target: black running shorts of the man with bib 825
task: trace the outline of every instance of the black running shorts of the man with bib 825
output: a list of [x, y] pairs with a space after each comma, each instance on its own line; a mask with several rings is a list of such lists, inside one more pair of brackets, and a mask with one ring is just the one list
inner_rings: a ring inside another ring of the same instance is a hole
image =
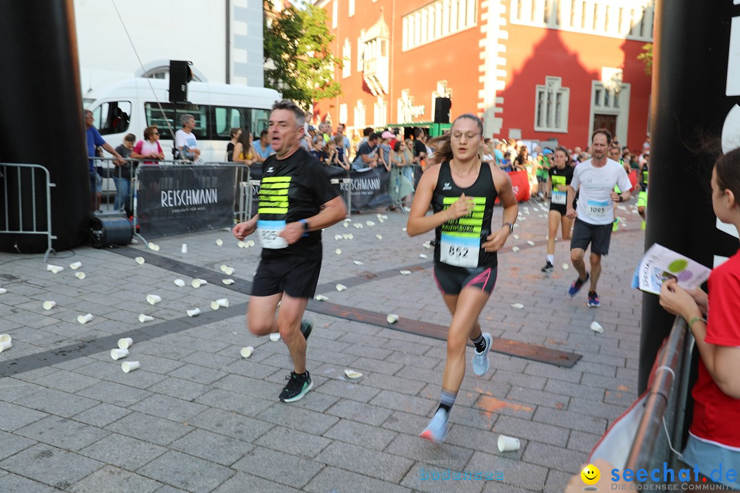
[[252, 296], [286, 293], [294, 298], [313, 298], [321, 272], [321, 259], [289, 255], [262, 259], [252, 282]]

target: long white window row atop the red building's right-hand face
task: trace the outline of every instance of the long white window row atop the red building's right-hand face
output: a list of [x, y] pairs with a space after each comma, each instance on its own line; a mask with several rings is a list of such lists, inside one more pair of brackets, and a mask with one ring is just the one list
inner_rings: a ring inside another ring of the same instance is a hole
[[511, 24], [653, 41], [654, 0], [511, 0], [509, 12]]

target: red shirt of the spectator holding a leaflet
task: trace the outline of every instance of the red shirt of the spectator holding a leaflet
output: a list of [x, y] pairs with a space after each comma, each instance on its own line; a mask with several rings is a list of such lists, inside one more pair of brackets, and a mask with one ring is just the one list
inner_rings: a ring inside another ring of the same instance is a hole
[[[735, 254], [709, 276], [707, 336], [717, 346], [740, 347], [740, 254]], [[738, 376], [736, 375], [736, 378]], [[699, 358], [699, 376], [691, 395], [693, 423], [689, 431], [698, 438], [740, 448], [740, 399], [722, 392]]]

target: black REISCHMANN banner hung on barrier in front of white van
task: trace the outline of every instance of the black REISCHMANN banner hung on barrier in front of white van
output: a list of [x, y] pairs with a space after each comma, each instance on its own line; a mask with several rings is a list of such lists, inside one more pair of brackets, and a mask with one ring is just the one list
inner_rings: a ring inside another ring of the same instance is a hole
[[145, 238], [234, 224], [236, 166], [139, 166], [136, 214]]

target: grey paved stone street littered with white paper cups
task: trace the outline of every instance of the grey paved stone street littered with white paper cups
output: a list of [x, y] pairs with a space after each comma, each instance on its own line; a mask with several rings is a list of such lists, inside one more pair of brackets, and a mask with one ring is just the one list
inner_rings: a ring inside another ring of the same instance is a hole
[[[627, 226], [613, 235], [604, 261], [603, 306], [589, 309], [585, 292], [565, 296], [574, 278], [561, 267], [565, 242], [556, 271], [540, 273], [544, 211], [520, 205], [519, 239], [499, 256], [482, 325], [493, 336], [582, 358], [562, 368], [491, 353], [485, 378], [465, 376], [443, 446], [417, 437], [440, 392], [445, 343], [437, 339], [317, 315], [308, 350], [314, 390], [295, 404], [277, 401], [289, 370], [286, 347], [250, 335], [243, 319], [259, 248], [240, 249], [225, 231], [155, 240], [157, 254], [141, 244], [76, 248], [50, 259], [65, 266], [58, 274], [45, 270], [41, 256], [0, 254], [0, 285], [8, 290], [0, 296], [0, 332], [13, 337], [0, 353], [0, 492], [562, 492], [636, 398], [642, 296], [629, 285], [644, 234], [633, 209], [632, 202], [619, 211]], [[320, 291], [329, 301], [448, 324], [429, 260], [420, 258], [431, 259], [422, 246], [431, 234], [409, 238], [399, 213], [383, 223], [375, 214], [352, 220], [325, 232]], [[352, 227], [367, 220], [376, 225]], [[348, 233], [354, 239], [334, 240]], [[138, 254], [150, 261], [137, 265], [131, 256]], [[158, 259], [183, 263], [166, 264], [172, 271]], [[86, 279], [73, 276], [75, 261]], [[235, 268], [235, 285], [219, 282], [222, 264]], [[373, 279], [411, 265], [423, 269]], [[210, 282], [199, 289], [172, 282], [192, 276]], [[338, 280], [357, 277], [348, 290], [334, 290]], [[147, 293], [163, 301], [149, 305]], [[231, 306], [213, 312], [209, 303], [223, 297]], [[43, 310], [50, 299], [57, 306]], [[525, 308], [513, 309], [515, 302]], [[192, 307], [201, 316], [186, 316]], [[92, 321], [79, 324], [88, 312]], [[141, 324], [139, 313], [155, 320]], [[589, 329], [594, 319], [605, 333]], [[135, 340], [127, 359], [141, 361], [140, 370], [122, 373], [121, 361], [110, 358], [121, 336]], [[242, 359], [247, 345], [255, 352]], [[348, 367], [363, 377], [349, 381]], [[521, 449], [498, 452], [501, 433], [519, 438]], [[500, 480], [423, 479], [447, 468]]]

